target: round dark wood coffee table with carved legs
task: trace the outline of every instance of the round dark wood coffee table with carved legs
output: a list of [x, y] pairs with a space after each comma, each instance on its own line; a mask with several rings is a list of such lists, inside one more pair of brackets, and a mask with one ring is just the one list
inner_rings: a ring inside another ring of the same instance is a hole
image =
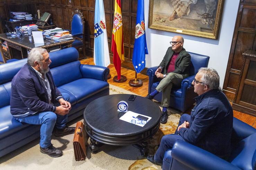
[[[128, 100], [130, 94], [113, 94], [100, 97], [92, 101], [83, 112], [85, 129], [90, 137], [90, 149], [97, 152], [103, 144], [114, 146], [133, 145], [140, 149], [142, 156], [147, 156], [147, 142], [160, 127], [161, 110], [158, 105], [141, 96], [136, 96], [134, 101]], [[128, 110], [152, 119], [144, 127], [125, 122], [119, 118], [124, 112], [117, 111], [117, 103], [128, 103]], [[97, 142], [97, 143], [96, 143]]]

